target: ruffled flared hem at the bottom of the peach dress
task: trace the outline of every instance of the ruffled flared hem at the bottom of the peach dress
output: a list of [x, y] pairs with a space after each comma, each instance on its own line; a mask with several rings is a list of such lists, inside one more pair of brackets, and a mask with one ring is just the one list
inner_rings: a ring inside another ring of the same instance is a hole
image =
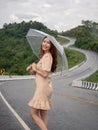
[[28, 105], [30, 107], [42, 110], [49, 110], [52, 108], [51, 101], [42, 101], [42, 100], [31, 100]]

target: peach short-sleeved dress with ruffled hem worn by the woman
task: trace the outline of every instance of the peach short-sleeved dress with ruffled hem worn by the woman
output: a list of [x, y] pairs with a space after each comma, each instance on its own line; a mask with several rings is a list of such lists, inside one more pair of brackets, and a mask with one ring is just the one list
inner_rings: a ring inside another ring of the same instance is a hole
[[51, 85], [51, 66], [52, 66], [52, 56], [50, 53], [44, 54], [44, 56], [37, 63], [37, 68], [48, 71], [49, 74], [47, 77], [43, 77], [39, 74], [36, 74], [36, 90], [33, 98], [29, 101], [29, 106], [49, 110], [52, 107], [51, 96], [53, 88]]

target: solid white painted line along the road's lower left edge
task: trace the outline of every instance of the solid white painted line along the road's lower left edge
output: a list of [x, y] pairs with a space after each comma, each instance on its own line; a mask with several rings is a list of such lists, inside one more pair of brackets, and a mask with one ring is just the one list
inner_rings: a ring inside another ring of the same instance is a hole
[[2, 100], [4, 101], [4, 103], [7, 105], [7, 107], [10, 109], [10, 111], [14, 114], [14, 116], [17, 118], [17, 120], [19, 121], [19, 123], [23, 126], [23, 128], [25, 130], [31, 130], [26, 123], [22, 120], [22, 118], [17, 114], [17, 112], [12, 108], [12, 106], [7, 102], [7, 100], [5, 99], [5, 97], [3, 96], [3, 94], [0, 92], [0, 97], [2, 98]]

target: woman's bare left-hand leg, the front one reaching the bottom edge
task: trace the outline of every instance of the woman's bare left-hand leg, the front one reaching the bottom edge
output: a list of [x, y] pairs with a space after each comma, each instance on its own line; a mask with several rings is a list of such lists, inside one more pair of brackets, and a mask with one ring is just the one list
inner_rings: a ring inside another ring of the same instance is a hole
[[43, 120], [39, 117], [40, 110], [31, 108], [30, 114], [41, 130], [48, 130]]

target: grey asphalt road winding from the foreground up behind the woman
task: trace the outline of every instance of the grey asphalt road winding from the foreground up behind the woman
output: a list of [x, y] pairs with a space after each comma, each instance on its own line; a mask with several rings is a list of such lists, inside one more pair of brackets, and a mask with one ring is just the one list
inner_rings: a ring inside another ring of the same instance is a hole
[[[64, 76], [53, 76], [54, 107], [48, 112], [48, 130], [98, 129], [98, 92], [71, 86], [73, 80], [85, 78], [98, 69], [98, 54], [81, 51], [87, 56], [86, 62], [68, 70]], [[33, 78], [1, 82], [0, 91], [16, 112], [9, 110], [0, 98], [0, 130], [39, 130], [27, 105], [34, 92]]]

